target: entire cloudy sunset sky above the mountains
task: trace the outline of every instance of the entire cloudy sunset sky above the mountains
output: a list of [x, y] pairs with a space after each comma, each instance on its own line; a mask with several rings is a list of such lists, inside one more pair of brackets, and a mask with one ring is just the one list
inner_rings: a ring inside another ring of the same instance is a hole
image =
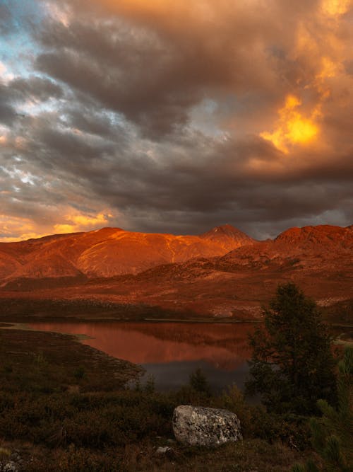
[[353, 1], [0, 0], [0, 241], [353, 224]]

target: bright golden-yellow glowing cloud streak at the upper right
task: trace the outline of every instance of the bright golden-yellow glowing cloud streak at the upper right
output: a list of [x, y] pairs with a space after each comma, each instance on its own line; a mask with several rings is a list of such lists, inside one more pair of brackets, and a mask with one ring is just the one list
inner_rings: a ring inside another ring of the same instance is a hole
[[[346, 13], [352, 0], [323, 0], [321, 4], [324, 13], [321, 21], [328, 23], [328, 18], [338, 18]], [[292, 53], [292, 59], [306, 59], [315, 64], [316, 73], [297, 81], [295, 94], [287, 95], [285, 106], [278, 110], [279, 118], [272, 132], [261, 132], [260, 136], [272, 142], [277, 149], [289, 154], [289, 150], [297, 144], [309, 144], [318, 137], [319, 121], [325, 115], [324, 105], [331, 96], [330, 79], [340, 76], [343, 71], [343, 52], [340, 41], [337, 40], [337, 23], [333, 22], [326, 30], [325, 53], [320, 38], [313, 35], [305, 23], [299, 23], [297, 43]], [[310, 112], [302, 112], [301, 96], [304, 92], [311, 93], [312, 103]]]

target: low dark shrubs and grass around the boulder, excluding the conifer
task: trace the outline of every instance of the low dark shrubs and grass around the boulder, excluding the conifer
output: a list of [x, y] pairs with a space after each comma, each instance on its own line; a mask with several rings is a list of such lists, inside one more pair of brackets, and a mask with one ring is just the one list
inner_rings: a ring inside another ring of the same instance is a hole
[[[127, 388], [129, 379], [138, 379], [132, 364], [71, 336], [0, 330], [0, 470], [16, 450], [29, 472], [282, 472], [311, 455], [304, 422], [248, 405], [235, 387], [213, 396], [202, 372], [171, 393], [152, 379]], [[216, 451], [177, 444], [172, 412], [183, 403], [234, 411], [244, 441]], [[158, 456], [159, 446], [170, 453]]]

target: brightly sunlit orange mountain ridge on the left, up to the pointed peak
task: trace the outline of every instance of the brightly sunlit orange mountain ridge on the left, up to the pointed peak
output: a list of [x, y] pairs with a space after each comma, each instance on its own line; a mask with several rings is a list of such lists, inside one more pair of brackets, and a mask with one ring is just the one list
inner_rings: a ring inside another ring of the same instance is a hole
[[230, 225], [201, 236], [134, 233], [119, 228], [45, 236], [0, 243], [0, 281], [137, 274], [157, 265], [224, 255], [253, 242]]

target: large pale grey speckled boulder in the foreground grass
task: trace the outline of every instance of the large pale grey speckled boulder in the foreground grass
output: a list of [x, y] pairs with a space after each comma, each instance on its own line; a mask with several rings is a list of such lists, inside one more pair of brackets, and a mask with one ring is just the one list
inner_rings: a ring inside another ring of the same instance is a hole
[[228, 410], [179, 405], [174, 410], [176, 439], [189, 446], [219, 446], [242, 439], [240, 421]]

